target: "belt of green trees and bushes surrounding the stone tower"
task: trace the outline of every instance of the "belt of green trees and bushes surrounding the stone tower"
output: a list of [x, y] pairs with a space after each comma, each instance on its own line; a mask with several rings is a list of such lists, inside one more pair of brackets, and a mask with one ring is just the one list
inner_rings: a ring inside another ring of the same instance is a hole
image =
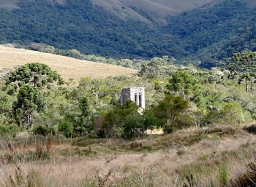
[[[227, 79], [229, 71], [174, 65], [167, 56], [145, 62], [156, 65], [156, 69], [151, 69], [158, 71], [155, 76], [144, 69], [142, 71], [147, 73], [140, 76], [83, 78], [78, 85], [69, 83], [67, 87], [59, 87], [52, 84], [48, 89], [30, 82], [20, 85], [18, 92], [13, 90], [12, 94], [10, 85], [15, 83], [6, 85], [3, 80], [0, 84], [3, 132], [8, 132], [9, 125], [17, 125], [40, 135], [60, 133], [76, 138], [97, 134], [98, 138], [112, 135], [131, 139], [160, 127], [165, 132], [173, 132], [193, 125], [252, 122], [256, 111], [255, 94], [246, 93], [244, 85], [238, 84], [236, 79]], [[34, 64], [31, 67], [47, 66]], [[33, 69], [31, 72], [37, 73]], [[124, 87], [145, 87], [146, 111], [143, 114], [138, 114], [138, 106], [132, 101], [120, 106]], [[170, 95], [170, 91], [174, 95]], [[102, 119], [100, 127], [94, 124], [96, 119]]]

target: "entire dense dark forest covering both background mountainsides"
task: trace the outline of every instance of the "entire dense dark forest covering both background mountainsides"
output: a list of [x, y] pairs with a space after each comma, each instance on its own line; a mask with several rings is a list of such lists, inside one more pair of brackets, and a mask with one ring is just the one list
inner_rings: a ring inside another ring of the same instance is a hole
[[[106, 57], [201, 60], [203, 67], [244, 49], [255, 50], [255, 8], [225, 0], [167, 18], [167, 25], [123, 20], [89, 0], [24, 0], [19, 9], [0, 9], [0, 42], [49, 44]], [[145, 12], [135, 9], [140, 15]]]

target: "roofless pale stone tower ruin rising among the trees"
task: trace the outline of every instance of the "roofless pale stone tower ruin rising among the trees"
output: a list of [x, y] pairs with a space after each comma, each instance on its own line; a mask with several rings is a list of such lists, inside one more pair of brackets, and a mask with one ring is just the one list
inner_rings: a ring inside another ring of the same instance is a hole
[[145, 109], [145, 88], [144, 87], [129, 87], [121, 90], [121, 105], [124, 105], [127, 100], [132, 100], [140, 107], [140, 111]]

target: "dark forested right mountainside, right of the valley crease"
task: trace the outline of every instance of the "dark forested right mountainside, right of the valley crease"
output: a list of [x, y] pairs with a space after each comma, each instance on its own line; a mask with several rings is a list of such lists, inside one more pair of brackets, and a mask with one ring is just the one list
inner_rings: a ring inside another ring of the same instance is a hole
[[211, 68], [235, 52], [255, 50], [255, 16], [255, 7], [246, 1], [225, 0], [170, 16], [164, 30], [178, 41], [171, 47], [174, 57], [199, 59], [200, 67]]

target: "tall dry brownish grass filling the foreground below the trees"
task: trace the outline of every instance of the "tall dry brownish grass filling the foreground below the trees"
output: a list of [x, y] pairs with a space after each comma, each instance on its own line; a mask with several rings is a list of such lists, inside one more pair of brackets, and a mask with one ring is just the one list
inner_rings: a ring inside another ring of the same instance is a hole
[[[222, 130], [225, 132], [226, 129]], [[178, 133], [173, 136], [178, 138]], [[214, 133], [189, 146], [133, 152], [127, 150], [127, 145], [122, 145], [127, 152], [101, 156], [74, 156], [78, 152], [77, 146], [52, 137], [1, 140], [0, 186], [256, 186], [256, 138], [240, 130], [232, 135]], [[168, 138], [172, 137], [148, 138], [144, 142], [139, 140], [140, 143], [135, 140], [127, 144], [141, 146], [143, 143], [148, 145], [147, 141], [155, 141], [162, 145], [160, 141]], [[189, 132], [189, 138], [194, 140], [195, 133], [192, 136]], [[184, 137], [181, 140], [184, 141]], [[107, 146], [111, 145], [100, 141], [92, 148], [90, 145], [90, 149], [105, 151]]]

